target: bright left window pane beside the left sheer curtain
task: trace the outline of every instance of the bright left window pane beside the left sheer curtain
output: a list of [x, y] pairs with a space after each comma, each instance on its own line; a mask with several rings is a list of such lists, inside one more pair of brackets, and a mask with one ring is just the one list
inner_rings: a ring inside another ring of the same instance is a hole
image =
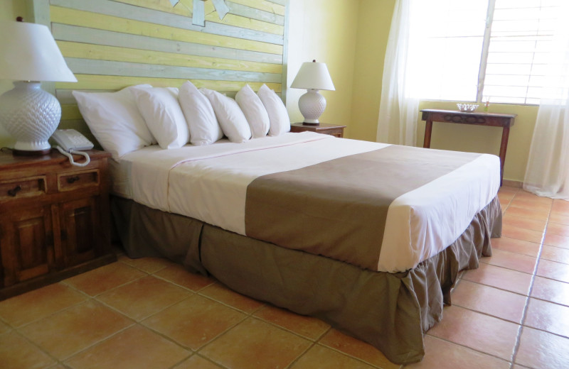
[[419, 99], [474, 101], [488, 1], [416, 0], [410, 53]]

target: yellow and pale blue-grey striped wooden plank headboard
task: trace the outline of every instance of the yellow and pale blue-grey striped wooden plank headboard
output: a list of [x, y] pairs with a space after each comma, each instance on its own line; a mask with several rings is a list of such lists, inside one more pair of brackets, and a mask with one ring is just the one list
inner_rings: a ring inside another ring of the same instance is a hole
[[61, 103], [60, 128], [94, 139], [74, 89], [180, 87], [189, 79], [230, 97], [265, 83], [285, 99], [288, 0], [225, 0], [223, 20], [206, 0], [196, 14], [205, 26], [192, 22], [193, 1], [203, 0], [28, 0], [31, 21], [50, 27], [78, 79], [43, 84]]

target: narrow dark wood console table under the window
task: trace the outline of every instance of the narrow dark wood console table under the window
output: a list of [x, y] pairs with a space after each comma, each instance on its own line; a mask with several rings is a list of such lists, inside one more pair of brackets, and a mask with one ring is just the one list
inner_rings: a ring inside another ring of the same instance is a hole
[[508, 137], [510, 127], [514, 126], [514, 119], [517, 114], [494, 114], [474, 111], [473, 113], [463, 113], [462, 111], [423, 109], [422, 120], [425, 125], [425, 142], [423, 148], [430, 148], [432, 122], [447, 122], [472, 124], [474, 126], [502, 127], [502, 141], [500, 143], [500, 184], [504, 179], [504, 162], [506, 161], [506, 150], [508, 148]]

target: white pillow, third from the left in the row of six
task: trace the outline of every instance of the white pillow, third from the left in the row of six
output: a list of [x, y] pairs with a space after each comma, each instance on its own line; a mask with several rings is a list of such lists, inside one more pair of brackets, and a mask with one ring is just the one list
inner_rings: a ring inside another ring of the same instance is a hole
[[186, 123], [190, 130], [190, 142], [193, 145], [211, 145], [223, 137], [216, 113], [213, 111], [209, 99], [190, 81], [184, 82], [180, 87], [178, 101]]

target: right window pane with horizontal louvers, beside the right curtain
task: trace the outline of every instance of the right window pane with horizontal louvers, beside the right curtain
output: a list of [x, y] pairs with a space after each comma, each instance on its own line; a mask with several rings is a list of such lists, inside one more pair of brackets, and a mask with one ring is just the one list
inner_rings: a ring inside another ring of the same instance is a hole
[[560, 1], [495, 0], [482, 101], [539, 104]]

